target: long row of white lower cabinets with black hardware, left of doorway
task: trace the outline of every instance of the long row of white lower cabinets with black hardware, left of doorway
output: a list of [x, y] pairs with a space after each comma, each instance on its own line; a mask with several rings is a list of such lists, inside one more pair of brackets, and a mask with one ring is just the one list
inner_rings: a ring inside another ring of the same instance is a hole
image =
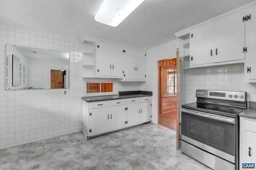
[[151, 121], [152, 97], [83, 102], [83, 133], [88, 137]]

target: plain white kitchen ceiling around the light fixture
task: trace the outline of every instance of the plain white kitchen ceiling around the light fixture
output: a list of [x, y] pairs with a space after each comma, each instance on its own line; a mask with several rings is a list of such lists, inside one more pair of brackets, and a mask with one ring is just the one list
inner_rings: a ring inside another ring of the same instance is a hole
[[148, 49], [176, 39], [178, 31], [253, 1], [145, 0], [120, 25], [111, 27], [94, 20], [103, 0], [0, 0], [0, 23]]

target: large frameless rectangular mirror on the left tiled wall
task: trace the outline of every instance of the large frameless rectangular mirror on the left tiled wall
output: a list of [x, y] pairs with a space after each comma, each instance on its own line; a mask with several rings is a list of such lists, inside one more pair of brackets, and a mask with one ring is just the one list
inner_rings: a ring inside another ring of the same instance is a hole
[[6, 90], [51, 88], [69, 88], [69, 53], [6, 45]]

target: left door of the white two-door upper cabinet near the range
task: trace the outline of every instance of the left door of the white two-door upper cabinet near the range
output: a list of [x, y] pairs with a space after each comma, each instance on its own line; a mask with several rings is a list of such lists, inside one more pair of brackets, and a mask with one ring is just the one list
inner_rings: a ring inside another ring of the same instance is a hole
[[200, 27], [192, 31], [191, 34], [193, 34], [193, 37], [190, 38], [190, 65], [194, 66], [199, 64], [213, 63], [213, 31], [214, 30], [212, 30], [212, 24]]

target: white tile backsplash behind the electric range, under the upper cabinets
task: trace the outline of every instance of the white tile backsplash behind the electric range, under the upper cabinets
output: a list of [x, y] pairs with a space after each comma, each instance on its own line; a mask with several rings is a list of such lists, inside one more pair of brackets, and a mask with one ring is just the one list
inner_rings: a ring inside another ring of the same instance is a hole
[[244, 82], [244, 63], [184, 70], [184, 103], [196, 102], [196, 89], [247, 92], [256, 102], [256, 83]]

